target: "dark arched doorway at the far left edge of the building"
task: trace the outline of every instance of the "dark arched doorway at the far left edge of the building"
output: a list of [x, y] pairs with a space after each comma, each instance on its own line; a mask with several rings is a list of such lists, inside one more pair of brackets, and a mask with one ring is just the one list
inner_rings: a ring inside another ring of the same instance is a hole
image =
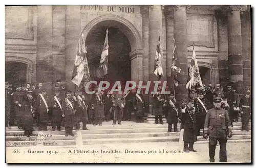
[[22, 62], [5, 62], [5, 81], [15, 87], [17, 84], [26, 84], [27, 82], [27, 64]]

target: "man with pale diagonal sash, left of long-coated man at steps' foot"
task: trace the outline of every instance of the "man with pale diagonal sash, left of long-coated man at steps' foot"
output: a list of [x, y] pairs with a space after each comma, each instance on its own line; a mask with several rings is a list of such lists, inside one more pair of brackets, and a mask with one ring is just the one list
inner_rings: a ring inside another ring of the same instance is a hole
[[168, 123], [168, 131], [172, 132], [172, 125], [174, 125], [174, 132], [178, 132], [177, 124], [178, 124], [178, 110], [177, 103], [174, 98], [174, 93], [171, 92], [169, 98], [165, 101], [165, 107], [167, 110], [166, 120]]

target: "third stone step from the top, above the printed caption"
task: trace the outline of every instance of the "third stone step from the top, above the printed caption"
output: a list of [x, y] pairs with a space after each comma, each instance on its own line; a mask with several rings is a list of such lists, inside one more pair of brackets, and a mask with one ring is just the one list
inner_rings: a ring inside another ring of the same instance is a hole
[[[234, 130], [232, 131], [234, 135], [250, 135], [251, 131], [241, 131]], [[65, 133], [53, 134], [51, 136], [44, 137], [45, 140], [66, 140], [74, 139], [72, 136], [64, 136]], [[74, 131], [76, 135], [76, 131]], [[179, 132], [142, 132], [142, 133], [113, 133], [113, 134], [82, 134], [82, 139], [99, 139], [99, 138], [136, 138], [136, 137], [163, 137], [163, 136], [179, 136]], [[203, 135], [203, 132], [200, 131], [200, 135]], [[37, 139], [37, 136], [6, 136], [6, 141], [31, 141]]]

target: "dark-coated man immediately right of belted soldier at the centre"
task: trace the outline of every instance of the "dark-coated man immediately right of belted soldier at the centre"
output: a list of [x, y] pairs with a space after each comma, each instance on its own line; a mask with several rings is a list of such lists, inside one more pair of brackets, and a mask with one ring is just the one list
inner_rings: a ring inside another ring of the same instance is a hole
[[124, 95], [125, 98], [125, 115], [123, 116], [123, 121], [131, 121], [131, 113], [133, 111], [133, 99], [134, 94], [131, 90], [128, 90]]

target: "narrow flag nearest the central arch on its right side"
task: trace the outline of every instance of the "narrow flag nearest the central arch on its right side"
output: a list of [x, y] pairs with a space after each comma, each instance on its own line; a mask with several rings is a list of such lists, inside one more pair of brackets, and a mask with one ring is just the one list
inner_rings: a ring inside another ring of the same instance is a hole
[[160, 44], [160, 36], [157, 43], [157, 50], [155, 56], [155, 68], [154, 74], [158, 77], [158, 80], [161, 79], [163, 75], [163, 68], [162, 68], [162, 47]]

